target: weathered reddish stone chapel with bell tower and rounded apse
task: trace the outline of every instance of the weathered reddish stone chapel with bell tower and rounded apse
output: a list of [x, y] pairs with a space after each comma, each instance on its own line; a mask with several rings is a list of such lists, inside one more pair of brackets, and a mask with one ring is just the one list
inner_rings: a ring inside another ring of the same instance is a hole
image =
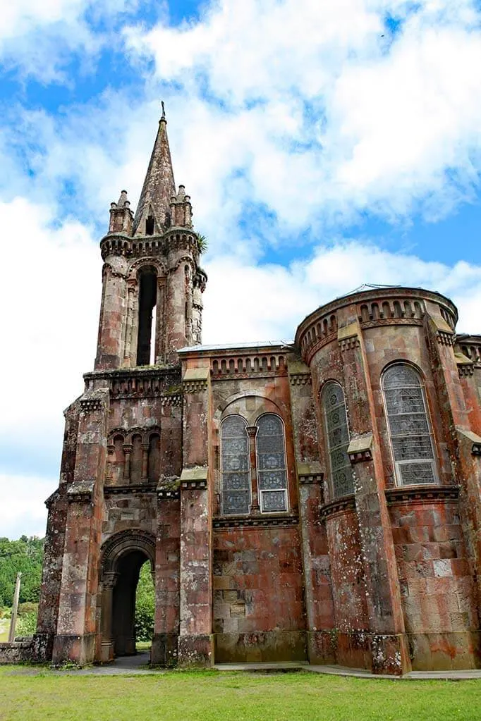
[[481, 336], [422, 288], [369, 288], [292, 345], [201, 345], [202, 239], [162, 115], [135, 215], [100, 241], [97, 358], [66, 410], [38, 658], [481, 665]]

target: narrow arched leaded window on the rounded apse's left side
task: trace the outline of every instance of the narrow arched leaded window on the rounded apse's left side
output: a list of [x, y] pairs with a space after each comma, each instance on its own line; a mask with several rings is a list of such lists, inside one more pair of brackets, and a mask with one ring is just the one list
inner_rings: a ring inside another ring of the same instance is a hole
[[354, 492], [353, 468], [348, 456], [349, 428], [341, 386], [330, 381], [322, 390], [327, 451], [329, 453], [332, 497], [340, 498]]

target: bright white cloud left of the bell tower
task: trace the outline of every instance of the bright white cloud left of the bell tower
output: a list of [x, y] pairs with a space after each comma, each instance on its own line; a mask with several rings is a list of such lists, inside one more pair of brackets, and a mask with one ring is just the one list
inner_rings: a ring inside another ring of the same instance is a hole
[[53, 225], [48, 208], [25, 198], [0, 203], [4, 238], [2, 441], [57, 445], [63, 409], [93, 368], [100, 252], [78, 221]]

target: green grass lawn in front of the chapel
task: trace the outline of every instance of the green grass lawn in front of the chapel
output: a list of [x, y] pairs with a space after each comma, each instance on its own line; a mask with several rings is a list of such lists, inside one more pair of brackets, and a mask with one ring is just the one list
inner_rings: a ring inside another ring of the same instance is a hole
[[387, 681], [305, 671], [67, 676], [46, 668], [20, 675], [9, 666], [0, 668], [0, 698], [2, 721], [481, 719], [481, 681]]

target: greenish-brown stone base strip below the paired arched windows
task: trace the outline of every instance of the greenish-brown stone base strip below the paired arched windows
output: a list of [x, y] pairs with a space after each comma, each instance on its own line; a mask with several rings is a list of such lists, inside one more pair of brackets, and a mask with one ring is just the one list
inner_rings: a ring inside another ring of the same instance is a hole
[[305, 661], [305, 631], [214, 634], [216, 663]]

